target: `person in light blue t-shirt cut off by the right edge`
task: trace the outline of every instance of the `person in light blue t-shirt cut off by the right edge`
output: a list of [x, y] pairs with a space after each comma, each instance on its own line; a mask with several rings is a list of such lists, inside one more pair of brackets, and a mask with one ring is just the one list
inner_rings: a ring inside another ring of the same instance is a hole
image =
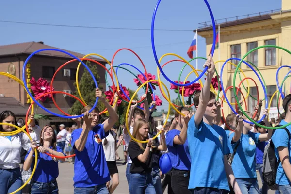
[[[286, 125], [291, 122], [291, 94], [283, 99], [283, 108], [285, 111], [285, 119], [280, 125]], [[286, 127], [291, 133], [291, 125]], [[280, 159], [276, 176], [276, 183], [279, 185], [281, 194], [291, 193], [291, 138], [284, 129], [277, 129], [272, 136], [272, 141], [276, 148], [276, 157]]]

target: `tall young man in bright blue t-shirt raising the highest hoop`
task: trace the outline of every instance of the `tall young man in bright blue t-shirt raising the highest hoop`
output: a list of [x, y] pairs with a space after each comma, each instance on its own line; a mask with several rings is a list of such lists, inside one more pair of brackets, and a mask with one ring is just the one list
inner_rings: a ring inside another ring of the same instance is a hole
[[194, 94], [196, 114], [190, 119], [187, 131], [191, 156], [188, 189], [193, 194], [227, 194], [228, 180], [235, 193], [241, 194], [226, 157], [232, 153], [226, 132], [213, 125], [217, 116], [215, 95], [210, 92], [215, 71], [213, 59], [208, 57], [203, 67], [208, 67], [207, 77], [201, 92]]

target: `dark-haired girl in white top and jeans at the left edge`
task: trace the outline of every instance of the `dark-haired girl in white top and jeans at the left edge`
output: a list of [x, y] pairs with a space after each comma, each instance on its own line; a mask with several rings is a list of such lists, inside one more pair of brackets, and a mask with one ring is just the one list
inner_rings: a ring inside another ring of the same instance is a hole
[[[39, 137], [41, 129], [35, 125], [34, 114], [30, 116], [30, 119], [30, 126]], [[18, 126], [16, 117], [11, 111], [3, 111], [0, 114], [0, 122]], [[9, 125], [0, 125], [0, 133], [1, 131], [11, 132], [14, 130], [16, 129]], [[20, 152], [21, 147], [29, 142], [29, 137], [22, 132], [13, 136], [0, 136], [0, 194], [14, 192], [22, 186], [19, 168]], [[21, 190], [16, 194], [21, 194]]]

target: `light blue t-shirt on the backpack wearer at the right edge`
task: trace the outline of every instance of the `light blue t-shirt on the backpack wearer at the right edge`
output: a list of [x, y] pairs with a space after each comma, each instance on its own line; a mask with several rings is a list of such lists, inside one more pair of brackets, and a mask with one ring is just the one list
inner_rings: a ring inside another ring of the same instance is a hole
[[[286, 121], [282, 120], [280, 122], [280, 125], [286, 125], [288, 124]], [[291, 133], [291, 125], [286, 127], [289, 132]], [[291, 139], [289, 139], [287, 132], [284, 129], [277, 129], [275, 130], [275, 133], [272, 135], [272, 141], [275, 146], [275, 153], [277, 160], [279, 160], [279, 153], [277, 148], [278, 147], [288, 147], [289, 151], [289, 162], [291, 163]], [[278, 185], [291, 185], [291, 181], [288, 180], [284, 169], [282, 167], [282, 163], [280, 162], [278, 170], [277, 170], [277, 177], [276, 177], [276, 183]]]

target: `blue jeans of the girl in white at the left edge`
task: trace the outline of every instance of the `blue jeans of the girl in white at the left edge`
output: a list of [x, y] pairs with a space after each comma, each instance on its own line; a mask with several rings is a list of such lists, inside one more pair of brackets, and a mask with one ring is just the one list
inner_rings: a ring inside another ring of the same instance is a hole
[[[22, 186], [20, 168], [0, 169], [0, 194], [9, 194]], [[21, 194], [21, 190], [16, 194]]]

